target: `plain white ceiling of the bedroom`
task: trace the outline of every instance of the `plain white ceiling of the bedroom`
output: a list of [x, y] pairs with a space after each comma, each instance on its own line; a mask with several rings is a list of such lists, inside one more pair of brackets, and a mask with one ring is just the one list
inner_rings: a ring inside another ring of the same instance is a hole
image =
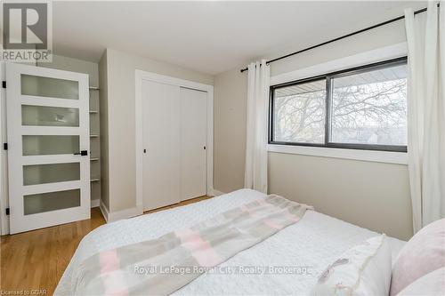
[[425, 2], [53, 2], [56, 54], [98, 61], [105, 48], [210, 75], [302, 49]]

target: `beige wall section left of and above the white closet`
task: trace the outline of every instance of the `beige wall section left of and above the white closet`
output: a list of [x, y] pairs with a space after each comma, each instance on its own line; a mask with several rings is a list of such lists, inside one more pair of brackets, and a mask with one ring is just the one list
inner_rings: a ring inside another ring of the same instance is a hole
[[[131, 216], [136, 207], [135, 134], [134, 134], [134, 73], [136, 69], [174, 76], [202, 84], [214, 84], [214, 77], [166, 62], [150, 60], [112, 49], [106, 51], [107, 96], [101, 103], [108, 104], [108, 142], [101, 149], [108, 150], [109, 182], [103, 192], [109, 199], [109, 212]], [[105, 100], [105, 101], [104, 101]], [[102, 125], [103, 126], [103, 125]], [[115, 216], [118, 216], [115, 215]], [[121, 217], [121, 216], [119, 216]]]

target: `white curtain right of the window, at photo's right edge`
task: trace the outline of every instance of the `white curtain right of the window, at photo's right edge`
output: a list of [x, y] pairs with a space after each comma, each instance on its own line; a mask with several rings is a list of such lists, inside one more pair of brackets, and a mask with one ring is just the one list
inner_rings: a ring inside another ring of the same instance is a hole
[[[405, 11], [408, 40], [408, 156], [413, 226], [445, 217], [445, 7]], [[443, 6], [443, 5], [442, 5]]]

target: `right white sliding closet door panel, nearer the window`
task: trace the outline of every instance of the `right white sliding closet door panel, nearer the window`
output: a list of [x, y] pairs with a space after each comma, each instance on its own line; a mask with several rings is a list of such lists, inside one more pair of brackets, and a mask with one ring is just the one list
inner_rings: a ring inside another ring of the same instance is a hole
[[181, 199], [206, 195], [207, 92], [181, 88]]

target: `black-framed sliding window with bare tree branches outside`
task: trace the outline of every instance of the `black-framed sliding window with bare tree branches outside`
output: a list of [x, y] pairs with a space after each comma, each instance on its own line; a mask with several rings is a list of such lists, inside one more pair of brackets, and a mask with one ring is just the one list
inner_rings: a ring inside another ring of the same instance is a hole
[[407, 60], [271, 86], [271, 144], [407, 151]]

